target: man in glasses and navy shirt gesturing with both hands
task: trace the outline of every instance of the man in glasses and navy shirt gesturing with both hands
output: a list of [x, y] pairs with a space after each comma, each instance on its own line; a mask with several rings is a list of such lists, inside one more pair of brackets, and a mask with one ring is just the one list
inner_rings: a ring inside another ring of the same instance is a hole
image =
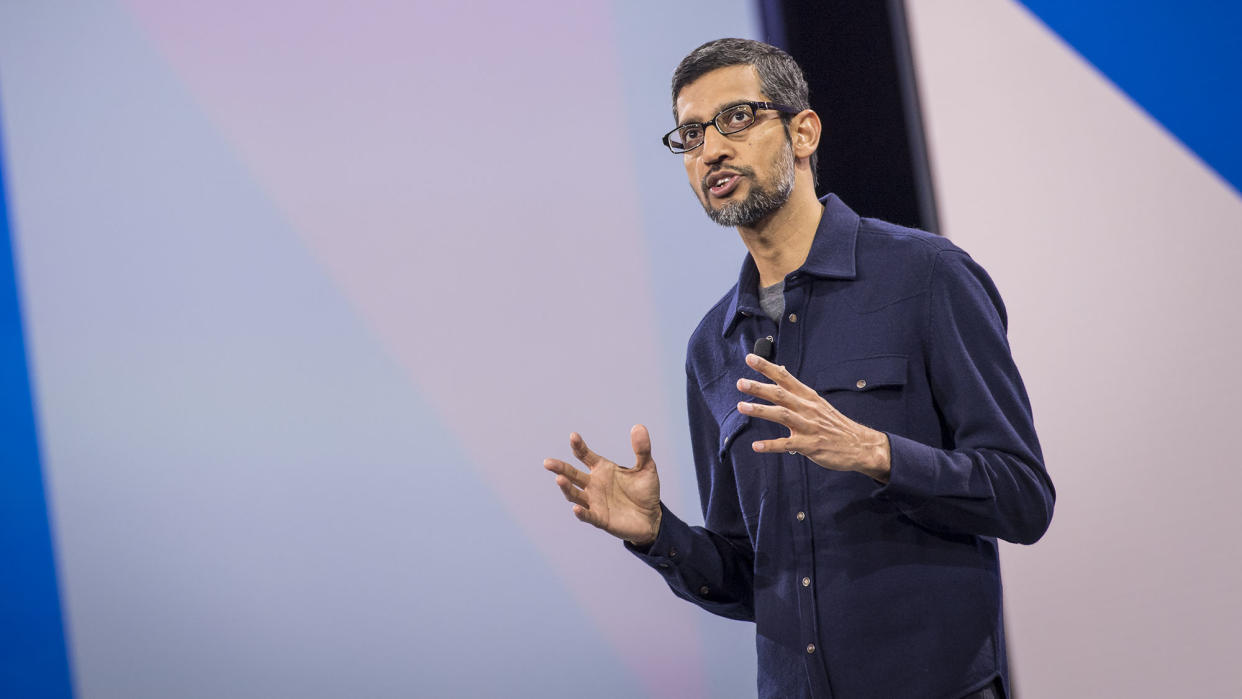
[[761, 697], [1007, 695], [996, 538], [1040, 539], [1054, 492], [1004, 307], [949, 241], [816, 199], [807, 106], [754, 41], [673, 74], [664, 144], [749, 251], [687, 351], [704, 526], [661, 504], [642, 426], [633, 468], [576, 433], [587, 472], [544, 466], [677, 596], [755, 622]]

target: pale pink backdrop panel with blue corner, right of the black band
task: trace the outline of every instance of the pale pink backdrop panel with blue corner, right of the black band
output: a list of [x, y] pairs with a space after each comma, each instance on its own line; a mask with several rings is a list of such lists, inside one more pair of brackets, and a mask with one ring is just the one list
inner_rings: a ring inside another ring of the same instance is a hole
[[1242, 7], [907, 7], [941, 230], [1057, 484], [1001, 550], [1018, 695], [1242, 697]]

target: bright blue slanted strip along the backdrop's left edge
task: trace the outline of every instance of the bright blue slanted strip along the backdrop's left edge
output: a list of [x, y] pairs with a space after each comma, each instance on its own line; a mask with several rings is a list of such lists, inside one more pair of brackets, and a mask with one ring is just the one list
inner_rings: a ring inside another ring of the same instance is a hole
[[72, 697], [17, 300], [2, 143], [0, 128], [0, 697]]

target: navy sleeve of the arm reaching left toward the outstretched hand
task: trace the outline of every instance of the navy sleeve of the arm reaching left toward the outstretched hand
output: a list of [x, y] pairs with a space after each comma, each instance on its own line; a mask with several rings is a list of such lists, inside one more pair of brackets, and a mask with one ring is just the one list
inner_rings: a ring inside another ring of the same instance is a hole
[[626, 548], [664, 577], [674, 595], [728, 618], [754, 621], [754, 549], [741, 519], [733, 471], [720, 462], [719, 426], [693, 377], [687, 379], [691, 444], [707, 526], [691, 526], [661, 503], [656, 540]]

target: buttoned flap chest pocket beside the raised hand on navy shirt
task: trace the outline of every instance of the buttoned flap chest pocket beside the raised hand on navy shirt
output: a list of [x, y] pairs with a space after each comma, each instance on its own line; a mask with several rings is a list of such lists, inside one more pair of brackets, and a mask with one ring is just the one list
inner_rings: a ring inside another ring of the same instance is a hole
[[908, 376], [909, 366], [903, 355], [864, 356], [822, 368], [811, 387], [854, 422], [904, 433]]

